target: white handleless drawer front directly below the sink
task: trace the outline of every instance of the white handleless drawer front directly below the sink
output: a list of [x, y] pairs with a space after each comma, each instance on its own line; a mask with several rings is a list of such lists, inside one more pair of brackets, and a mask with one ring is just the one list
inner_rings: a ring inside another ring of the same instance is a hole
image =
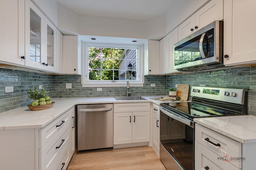
[[150, 111], [150, 103], [114, 104], [115, 112]]

